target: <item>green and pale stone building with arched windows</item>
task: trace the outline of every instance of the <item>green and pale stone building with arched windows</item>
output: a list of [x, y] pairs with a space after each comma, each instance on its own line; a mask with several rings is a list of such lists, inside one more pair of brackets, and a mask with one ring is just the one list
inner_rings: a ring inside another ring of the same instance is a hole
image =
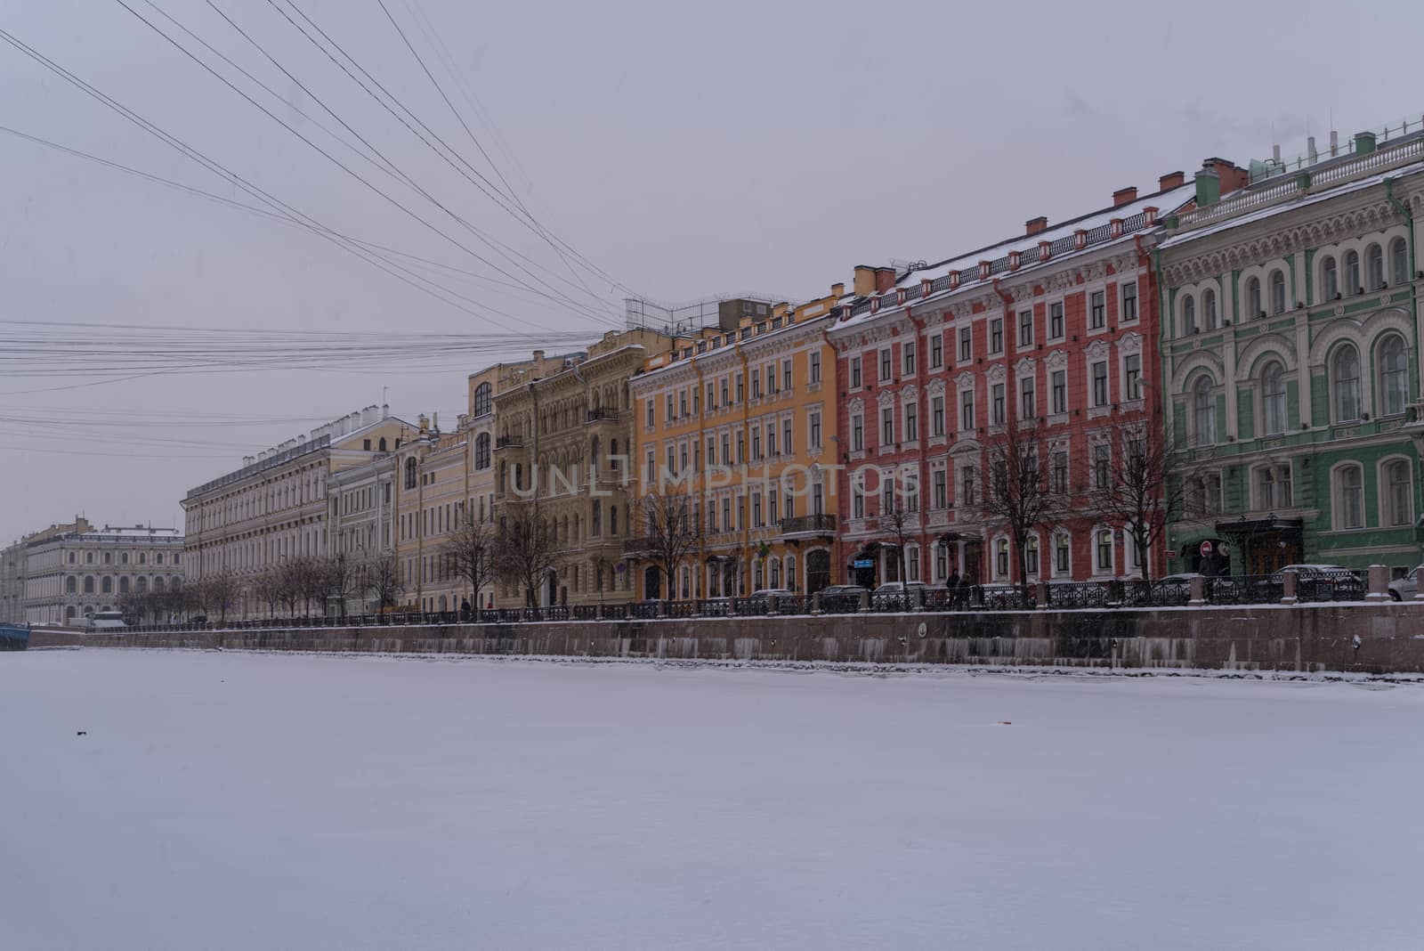
[[1424, 131], [1263, 165], [1247, 181], [1209, 161], [1158, 251], [1166, 448], [1183, 490], [1168, 564], [1411, 568]]

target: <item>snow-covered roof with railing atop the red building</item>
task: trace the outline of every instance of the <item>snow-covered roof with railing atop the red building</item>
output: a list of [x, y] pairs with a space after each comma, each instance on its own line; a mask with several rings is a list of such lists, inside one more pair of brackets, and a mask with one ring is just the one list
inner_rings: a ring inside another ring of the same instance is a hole
[[[923, 282], [930, 282], [930, 298], [950, 290], [987, 282], [1001, 275], [1021, 275], [1042, 263], [1059, 263], [1064, 258], [1105, 245], [1125, 241], [1134, 233], [1156, 228], [1171, 212], [1185, 206], [1196, 196], [1196, 185], [1183, 182], [1175, 188], [1153, 192], [1122, 205], [1094, 211], [1079, 218], [1058, 222], [1032, 235], [1017, 235], [1005, 241], [958, 253], [938, 263], [917, 268], [901, 275], [886, 293], [854, 299], [849, 317], [840, 316], [836, 329], [856, 326], [870, 320], [881, 308], [899, 306], [899, 292], [906, 290], [906, 303], [911, 299], [923, 302]], [[1122, 222], [1121, 229], [1114, 222]], [[1079, 238], [1079, 233], [1082, 235]], [[1048, 245], [1048, 258], [1042, 259], [1040, 248]], [[1015, 268], [1014, 256], [1018, 256]], [[987, 265], [987, 266], [984, 266]], [[911, 298], [913, 292], [913, 298]], [[879, 308], [871, 302], [879, 300]], [[843, 315], [843, 306], [840, 308]]]

